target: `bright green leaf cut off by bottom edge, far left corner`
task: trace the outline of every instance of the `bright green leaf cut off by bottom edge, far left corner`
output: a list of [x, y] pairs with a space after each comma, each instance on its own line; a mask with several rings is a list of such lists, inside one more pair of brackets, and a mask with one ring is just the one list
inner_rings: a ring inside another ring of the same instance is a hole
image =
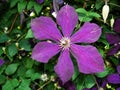
[[8, 80], [2, 87], [2, 90], [14, 90], [15, 87], [19, 85], [17, 79]]

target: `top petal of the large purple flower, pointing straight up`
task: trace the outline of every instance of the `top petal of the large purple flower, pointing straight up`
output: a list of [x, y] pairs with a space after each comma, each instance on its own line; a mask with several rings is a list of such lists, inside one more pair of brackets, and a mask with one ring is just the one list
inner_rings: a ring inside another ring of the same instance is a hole
[[75, 9], [69, 5], [63, 6], [57, 13], [57, 23], [61, 26], [63, 35], [69, 37], [78, 22]]

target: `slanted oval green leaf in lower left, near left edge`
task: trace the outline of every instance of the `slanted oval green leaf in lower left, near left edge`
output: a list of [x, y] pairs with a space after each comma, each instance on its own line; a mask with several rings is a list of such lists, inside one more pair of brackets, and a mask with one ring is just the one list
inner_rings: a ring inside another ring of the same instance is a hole
[[18, 63], [14, 63], [14, 64], [10, 64], [7, 66], [6, 70], [5, 70], [5, 73], [7, 75], [12, 75], [15, 73], [15, 71], [17, 70], [19, 64]]

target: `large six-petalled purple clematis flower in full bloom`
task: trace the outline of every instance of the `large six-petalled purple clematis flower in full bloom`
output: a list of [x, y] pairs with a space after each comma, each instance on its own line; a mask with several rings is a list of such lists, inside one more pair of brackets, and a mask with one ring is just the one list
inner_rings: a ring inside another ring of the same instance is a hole
[[80, 72], [91, 74], [104, 71], [104, 62], [98, 50], [91, 45], [77, 44], [97, 41], [101, 35], [101, 28], [95, 23], [86, 22], [72, 34], [78, 22], [78, 15], [69, 5], [60, 9], [56, 19], [62, 34], [50, 17], [41, 16], [31, 21], [31, 28], [36, 39], [53, 41], [39, 42], [32, 51], [32, 58], [48, 63], [50, 58], [60, 52], [54, 70], [63, 83], [70, 80], [74, 73], [70, 53], [76, 58]]

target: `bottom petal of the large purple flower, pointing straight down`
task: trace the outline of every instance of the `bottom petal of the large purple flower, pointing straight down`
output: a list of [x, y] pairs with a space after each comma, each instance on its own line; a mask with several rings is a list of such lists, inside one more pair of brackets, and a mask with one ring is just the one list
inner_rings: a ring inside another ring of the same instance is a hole
[[63, 52], [61, 52], [58, 63], [55, 66], [54, 70], [63, 83], [71, 79], [74, 73], [74, 67], [70, 59], [68, 49], [65, 49]]

